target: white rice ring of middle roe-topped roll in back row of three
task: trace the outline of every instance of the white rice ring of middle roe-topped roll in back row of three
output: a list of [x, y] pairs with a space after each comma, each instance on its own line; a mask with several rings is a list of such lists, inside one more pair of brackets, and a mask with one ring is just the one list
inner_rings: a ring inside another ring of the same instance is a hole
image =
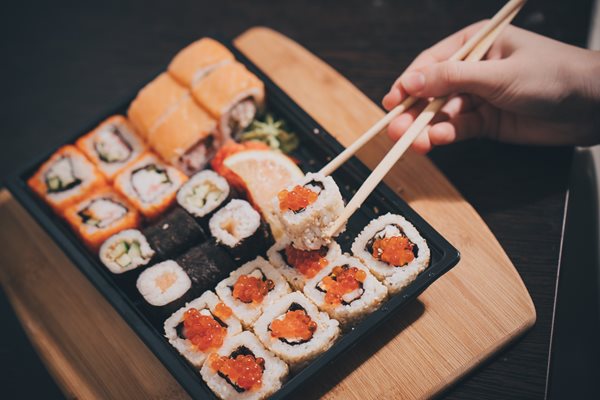
[[[233, 297], [233, 286], [242, 275], [251, 275], [259, 279], [270, 279], [273, 281], [273, 289], [264, 297], [261, 303], [244, 303]], [[272, 303], [281, 296], [290, 292], [290, 286], [267, 260], [257, 257], [233, 271], [228, 278], [217, 285], [215, 291], [219, 298], [225, 303], [245, 327], [249, 327], [260, 316], [264, 306]]]

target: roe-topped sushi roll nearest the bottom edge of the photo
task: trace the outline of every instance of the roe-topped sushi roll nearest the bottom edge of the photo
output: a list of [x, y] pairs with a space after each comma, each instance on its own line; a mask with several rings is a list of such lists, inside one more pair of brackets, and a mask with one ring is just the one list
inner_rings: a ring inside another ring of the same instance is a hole
[[223, 400], [262, 400], [281, 388], [288, 366], [264, 348], [251, 332], [225, 340], [204, 361], [200, 375]]

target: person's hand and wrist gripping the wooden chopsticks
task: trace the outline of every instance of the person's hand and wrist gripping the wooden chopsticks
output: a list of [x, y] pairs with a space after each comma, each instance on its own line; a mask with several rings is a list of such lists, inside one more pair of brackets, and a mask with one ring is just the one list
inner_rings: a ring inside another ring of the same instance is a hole
[[[391, 110], [407, 96], [453, 96], [413, 143], [433, 146], [472, 137], [546, 145], [600, 143], [600, 52], [508, 26], [478, 62], [445, 61], [484, 21], [422, 52], [383, 98]], [[397, 140], [425, 106], [419, 101], [388, 127]]]

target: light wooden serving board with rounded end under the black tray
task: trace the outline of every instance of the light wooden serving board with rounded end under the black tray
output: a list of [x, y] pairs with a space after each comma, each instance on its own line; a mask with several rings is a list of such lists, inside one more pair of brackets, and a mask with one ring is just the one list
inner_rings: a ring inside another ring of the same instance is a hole
[[[254, 28], [235, 44], [345, 145], [383, 115], [340, 74], [277, 32]], [[359, 155], [371, 168], [390, 146], [381, 136]], [[497, 240], [426, 157], [406, 155], [386, 182], [460, 250], [462, 260], [298, 398], [431, 397], [535, 322], [527, 289]], [[0, 221], [2, 285], [69, 397], [187, 397], [7, 192], [0, 194]]]

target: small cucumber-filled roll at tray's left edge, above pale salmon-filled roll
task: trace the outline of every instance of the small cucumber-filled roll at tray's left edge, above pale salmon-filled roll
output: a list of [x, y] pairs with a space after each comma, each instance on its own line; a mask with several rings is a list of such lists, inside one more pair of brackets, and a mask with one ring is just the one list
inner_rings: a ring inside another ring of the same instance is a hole
[[147, 265], [154, 254], [154, 250], [142, 232], [137, 229], [126, 229], [102, 243], [99, 257], [110, 272], [122, 274]]

